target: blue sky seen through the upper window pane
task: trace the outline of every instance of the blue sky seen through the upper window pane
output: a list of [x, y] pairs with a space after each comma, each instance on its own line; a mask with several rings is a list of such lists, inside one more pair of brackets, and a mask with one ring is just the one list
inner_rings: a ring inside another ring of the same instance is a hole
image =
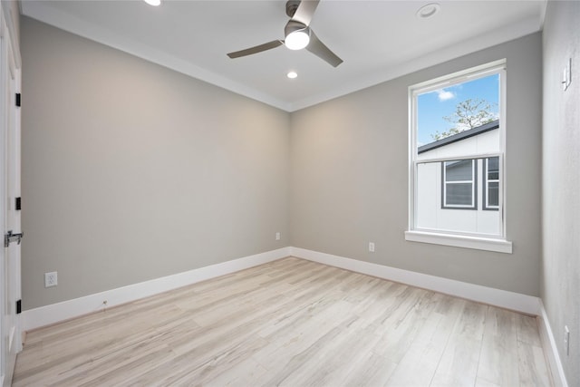
[[417, 145], [433, 142], [430, 134], [435, 131], [448, 131], [452, 128], [453, 124], [443, 120], [443, 117], [450, 116], [459, 102], [469, 98], [486, 100], [493, 105], [494, 112], [498, 113], [499, 74], [420, 94], [417, 97], [419, 126]]

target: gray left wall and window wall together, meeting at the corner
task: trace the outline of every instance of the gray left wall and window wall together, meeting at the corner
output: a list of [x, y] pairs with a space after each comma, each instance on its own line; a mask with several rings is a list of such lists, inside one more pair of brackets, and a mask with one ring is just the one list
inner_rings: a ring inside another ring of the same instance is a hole
[[[25, 309], [285, 246], [539, 295], [540, 34], [288, 114], [21, 28]], [[406, 242], [408, 86], [501, 58], [514, 254]]]

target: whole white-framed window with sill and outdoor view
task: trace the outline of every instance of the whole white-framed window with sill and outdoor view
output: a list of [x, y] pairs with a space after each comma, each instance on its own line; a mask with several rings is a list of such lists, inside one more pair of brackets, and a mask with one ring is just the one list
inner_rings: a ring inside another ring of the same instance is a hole
[[505, 236], [505, 61], [413, 85], [410, 241], [511, 253]]

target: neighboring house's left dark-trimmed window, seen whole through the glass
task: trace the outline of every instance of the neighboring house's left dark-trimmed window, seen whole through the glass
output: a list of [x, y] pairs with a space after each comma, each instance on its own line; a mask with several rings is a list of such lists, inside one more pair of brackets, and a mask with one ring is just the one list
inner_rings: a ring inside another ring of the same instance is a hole
[[442, 208], [476, 208], [476, 160], [452, 160], [443, 168]]

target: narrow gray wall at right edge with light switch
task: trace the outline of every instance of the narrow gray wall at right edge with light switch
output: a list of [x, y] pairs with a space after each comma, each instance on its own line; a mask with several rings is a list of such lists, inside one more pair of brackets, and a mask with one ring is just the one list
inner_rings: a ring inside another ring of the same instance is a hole
[[[580, 20], [579, 2], [547, 5], [544, 26], [542, 300], [567, 382], [580, 386]], [[572, 58], [572, 84], [562, 71]], [[564, 352], [564, 326], [570, 355]]]

